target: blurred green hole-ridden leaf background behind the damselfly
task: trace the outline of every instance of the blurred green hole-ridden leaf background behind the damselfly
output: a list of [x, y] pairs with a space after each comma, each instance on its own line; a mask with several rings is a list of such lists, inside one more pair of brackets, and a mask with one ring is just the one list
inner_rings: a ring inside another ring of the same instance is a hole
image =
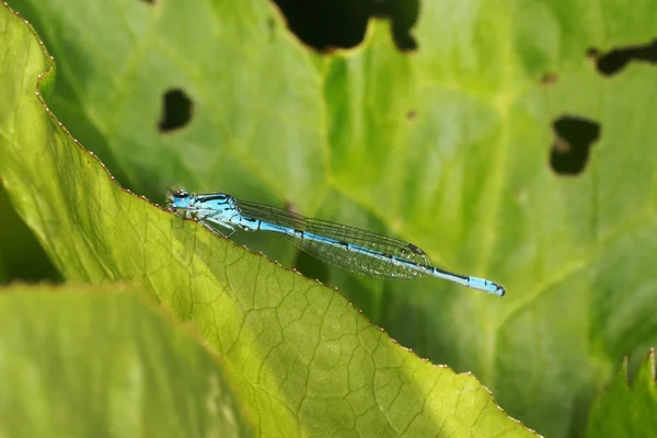
[[[657, 343], [657, 9], [620, 1], [12, 1], [58, 119], [119, 184], [227, 192], [408, 240], [504, 300], [234, 241], [339, 289], [546, 436]], [[279, 9], [278, 9], [279, 8]], [[0, 193], [0, 279], [61, 280]], [[633, 365], [632, 365], [633, 364]]]

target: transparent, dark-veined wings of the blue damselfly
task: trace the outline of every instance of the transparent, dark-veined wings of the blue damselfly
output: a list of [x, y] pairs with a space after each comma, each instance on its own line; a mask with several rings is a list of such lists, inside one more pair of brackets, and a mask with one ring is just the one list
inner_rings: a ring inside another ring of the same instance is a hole
[[[324, 238], [335, 239], [341, 242], [351, 243], [368, 250], [377, 251], [381, 254], [405, 258], [418, 265], [433, 265], [429, 256], [424, 251], [399, 239], [388, 238], [370, 231], [326, 220], [307, 218], [263, 204], [237, 200], [237, 206], [243, 216], [253, 219], [260, 219], [265, 222], [310, 232]], [[396, 279], [411, 279], [426, 275], [418, 270], [394, 265], [390, 261], [379, 260], [355, 251], [347, 251], [342, 245], [330, 245], [313, 241], [308, 237], [302, 239], [293, 235], [281, 235], [301, 251], [307, 252], [322, 262], [353, 274]]]

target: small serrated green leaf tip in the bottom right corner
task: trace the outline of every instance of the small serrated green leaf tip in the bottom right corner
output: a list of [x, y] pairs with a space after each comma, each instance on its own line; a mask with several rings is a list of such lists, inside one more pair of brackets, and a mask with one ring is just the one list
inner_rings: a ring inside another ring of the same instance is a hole
[[657, 436], [657, 385], [655, 349], [642, 361], [632, 384], [627, 358], [613, 376], [607, 391], [593, 403], [588, 437]]

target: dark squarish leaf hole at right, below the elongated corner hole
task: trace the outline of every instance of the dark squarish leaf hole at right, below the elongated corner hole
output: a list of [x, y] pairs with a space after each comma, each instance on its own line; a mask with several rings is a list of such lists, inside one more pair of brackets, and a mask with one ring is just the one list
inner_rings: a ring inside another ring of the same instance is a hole
[[554, 122], [554, 145], [550, 165], [560, 175], [577, 175], [584, 171], [590, 148], [600, 138], [600, 124], [584, 117], [564, 116]]

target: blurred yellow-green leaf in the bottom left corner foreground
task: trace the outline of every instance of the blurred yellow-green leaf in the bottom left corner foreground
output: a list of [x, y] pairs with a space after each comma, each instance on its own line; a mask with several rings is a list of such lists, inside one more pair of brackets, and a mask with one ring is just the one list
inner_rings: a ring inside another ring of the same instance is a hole
[[221, 360], [136, 292], [0, 289], [0, 436], [253, 435]]

